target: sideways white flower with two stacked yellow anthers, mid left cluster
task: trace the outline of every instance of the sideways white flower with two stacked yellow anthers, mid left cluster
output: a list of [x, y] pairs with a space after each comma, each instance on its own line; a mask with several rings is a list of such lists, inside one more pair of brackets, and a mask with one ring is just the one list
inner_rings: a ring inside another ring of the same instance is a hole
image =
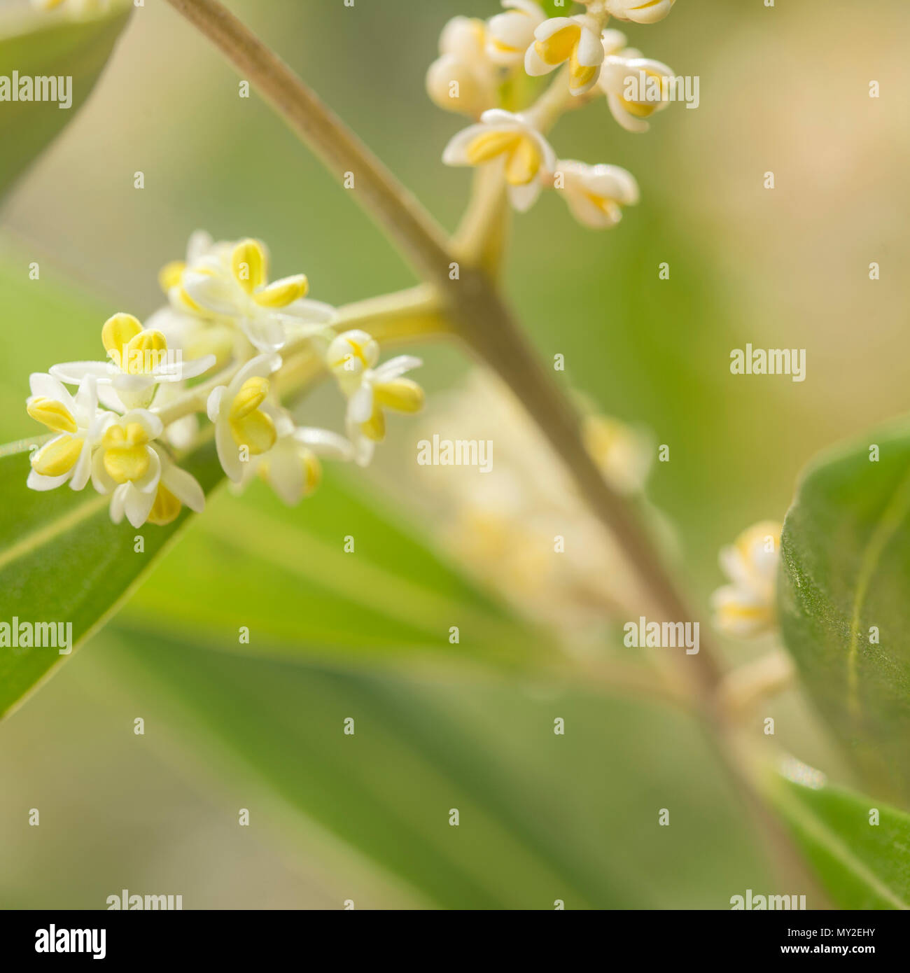
[[215, 425], [215, 448], [222, 469], [239, 483], [250, 456], [268, 452], [277, 433], [272, 416], [261, 409], [271, 392], [269, 376], [281, 367], [278, 355], [259, 355], [248, 361], [228, 385], [208, 396], [206, 410]]

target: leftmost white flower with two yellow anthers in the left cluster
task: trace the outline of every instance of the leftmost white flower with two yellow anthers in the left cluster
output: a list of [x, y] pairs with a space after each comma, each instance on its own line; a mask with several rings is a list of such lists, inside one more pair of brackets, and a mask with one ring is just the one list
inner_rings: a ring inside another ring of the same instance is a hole
[[46, 490], [68, 481], [72, 489], [82, 489], [91, 475], [91, 451], [116, 416], [98, 409], [92, 376], [80, 382], [75, 397], [51, 375], [36, 372], [28, 381], [28, 414], [59, 435], [32, 453], [27, 486]]

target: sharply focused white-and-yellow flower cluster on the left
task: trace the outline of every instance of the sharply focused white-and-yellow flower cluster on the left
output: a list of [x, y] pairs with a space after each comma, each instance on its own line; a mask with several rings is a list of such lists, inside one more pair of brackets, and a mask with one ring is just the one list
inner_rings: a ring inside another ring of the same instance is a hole
[[[228, 478], [244, 484], [259, 475], [294, 504], [318, 485], [319, 455], [366, 465], [385, 434], [383, 410], [416, 413], [423, 404], [420, 386], [403, 378], [420, 360], [402, 355], [380, 365], [370, 335], [339, 334], [335, 308], [309, 300], [304, 274], [270, 281], [259, 240], [193, 234], [186, 258], [167, 264], [160, 280], [167, 305], [145, 325], [126, 313], [105, 321], [107, 361], [64, 362], [31, 376], [27, 412], [53, 434], [32, 453], [32, 489], [81, 490], [91, 481], [110, 496], [111, 520], [126, 517], [133, 527], [171, 523], [184, 505], [200, 511], [202, 488], [174, 450], [201, 442], [199, 414], [207, 414]], [[337, 379], [346, 436], [298, 425], [282, 405], [282, 356], [300, 355], [315, 356]]]

